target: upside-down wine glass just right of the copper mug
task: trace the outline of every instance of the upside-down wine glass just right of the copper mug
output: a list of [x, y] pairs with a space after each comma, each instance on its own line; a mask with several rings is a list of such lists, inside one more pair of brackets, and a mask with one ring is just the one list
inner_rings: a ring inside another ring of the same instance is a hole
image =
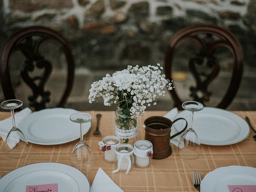
[[193, 127], [194, 112], [204, 108], [203, 104], [196, 101], [186, 101], [182, 104], [184, 110], [190, 111], [190, 126], [180, 137], [178, 143], [179, 155], [188, 160], [198, 158], [200, 150], [200, 140]]

